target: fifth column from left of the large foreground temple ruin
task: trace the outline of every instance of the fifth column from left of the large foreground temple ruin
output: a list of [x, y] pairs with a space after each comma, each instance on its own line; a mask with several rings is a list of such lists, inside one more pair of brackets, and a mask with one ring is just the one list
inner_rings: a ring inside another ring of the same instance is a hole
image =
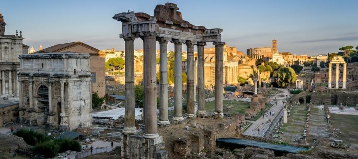
[[194, 117], [194, 44], [186, 41], [186, 117]]

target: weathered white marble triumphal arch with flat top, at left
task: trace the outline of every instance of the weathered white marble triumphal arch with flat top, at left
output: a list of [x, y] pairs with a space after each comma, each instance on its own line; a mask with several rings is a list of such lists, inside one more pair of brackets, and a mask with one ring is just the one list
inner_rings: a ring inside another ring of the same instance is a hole
[[62, 131], [91, 125], [89, 54], [19, 56], [19, 119]]

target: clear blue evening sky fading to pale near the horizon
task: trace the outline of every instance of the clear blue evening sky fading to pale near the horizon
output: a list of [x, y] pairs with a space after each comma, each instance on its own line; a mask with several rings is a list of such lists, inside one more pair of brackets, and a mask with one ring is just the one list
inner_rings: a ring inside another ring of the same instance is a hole
[[[44, 48], [83, 41], [97, 49], [124, 49], [121, 23], [112, 19], [128, 9], [153, 15], [167, 0], [1, 0], [5, 34], [22, 30], [24, 44]], [[358, 0], [171, 0], [184, 20], [222, 28], [222, 40], [246, 53], [270, 46], [294, 54], [338, 52], [358, 46]], [[140, 39], [135, 49], [142, 48]], [[208, 44], [208, 47], [212, 44]], [[169, 44], [173, 49], [174, 44]], [[159, 47], [157, 47], [159, 48]], [[183, 46], [185, 49], [185, 46]]]

